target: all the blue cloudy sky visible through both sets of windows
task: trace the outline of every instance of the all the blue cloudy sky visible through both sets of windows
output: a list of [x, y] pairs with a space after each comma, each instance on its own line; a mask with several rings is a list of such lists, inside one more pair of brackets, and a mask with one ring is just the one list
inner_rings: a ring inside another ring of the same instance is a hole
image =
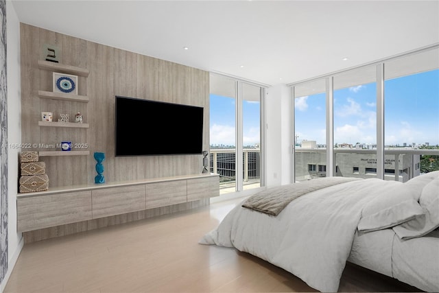
[[[386, 80], [385, 145], [439, 145], [439, 70]], [[334, 91], [334, 142], [377, 142], [376, 84]], [[296, 139], [326, 144], [324, 93], [295, 100]], [[244, 146], [259, 143], [259, 103], [243, 105]], [[211, 95], [211, 145], [235, 145], [235, 99]]]

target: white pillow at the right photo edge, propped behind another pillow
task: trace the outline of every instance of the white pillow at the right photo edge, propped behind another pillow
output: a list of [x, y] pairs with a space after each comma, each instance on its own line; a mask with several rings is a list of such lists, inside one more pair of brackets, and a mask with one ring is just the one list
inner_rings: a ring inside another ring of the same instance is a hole
[[399, 238], [422, 237], [439, 227], [439, 178], [425, 185], [420, 194], [419, 204], [424, 210], [424, 215], [418, 215], [393, 227]]

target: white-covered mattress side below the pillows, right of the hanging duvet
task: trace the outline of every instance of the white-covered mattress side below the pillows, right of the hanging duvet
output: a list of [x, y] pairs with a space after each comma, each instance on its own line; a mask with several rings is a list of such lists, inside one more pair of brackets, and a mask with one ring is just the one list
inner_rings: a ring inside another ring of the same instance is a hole
[[439, 231], [401, 240], [392, 229], [355, 234], [348, 261], [427, 292], [439, 292]]

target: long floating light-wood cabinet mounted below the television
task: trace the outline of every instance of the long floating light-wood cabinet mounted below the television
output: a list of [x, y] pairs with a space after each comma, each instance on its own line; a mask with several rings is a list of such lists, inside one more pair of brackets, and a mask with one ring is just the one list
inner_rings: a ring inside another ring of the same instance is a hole
[[19, 232], [219, 196], [217, 174], [19, 194]]

